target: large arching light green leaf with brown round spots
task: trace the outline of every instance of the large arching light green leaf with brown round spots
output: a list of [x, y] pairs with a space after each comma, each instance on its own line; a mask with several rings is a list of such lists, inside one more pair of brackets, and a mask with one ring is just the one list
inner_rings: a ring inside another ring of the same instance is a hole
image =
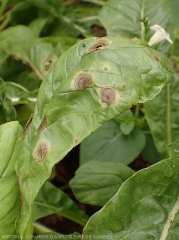
[[34, 199], [53, 165], [104, 122], [154, 98], [172, 74], [163, 54], [120, 36], [85, 39], [57, 60], [16, 147], [18, 234], [28, 233]]

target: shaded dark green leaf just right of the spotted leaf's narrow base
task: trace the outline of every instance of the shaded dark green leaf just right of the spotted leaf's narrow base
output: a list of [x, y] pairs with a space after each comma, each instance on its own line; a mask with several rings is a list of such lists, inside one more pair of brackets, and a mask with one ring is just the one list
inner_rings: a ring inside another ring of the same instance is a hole
[[[49, 194], [50, 193], [50, 194]], [[45, 182], [34, 202], [34, 221], [51, 214], [59, 214], [85, 226], [88, 216], [62, 191]]]

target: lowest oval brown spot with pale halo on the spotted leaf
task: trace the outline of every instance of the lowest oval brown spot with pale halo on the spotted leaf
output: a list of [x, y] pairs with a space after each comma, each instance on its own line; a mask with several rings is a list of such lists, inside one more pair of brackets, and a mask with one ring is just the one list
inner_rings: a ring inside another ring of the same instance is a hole
[[34, 159], [38, 163], [43, 163], [45, 157], [49, 153], [49, 143], [47, 141], [41, 141], [35, 151], [34, 151]]

